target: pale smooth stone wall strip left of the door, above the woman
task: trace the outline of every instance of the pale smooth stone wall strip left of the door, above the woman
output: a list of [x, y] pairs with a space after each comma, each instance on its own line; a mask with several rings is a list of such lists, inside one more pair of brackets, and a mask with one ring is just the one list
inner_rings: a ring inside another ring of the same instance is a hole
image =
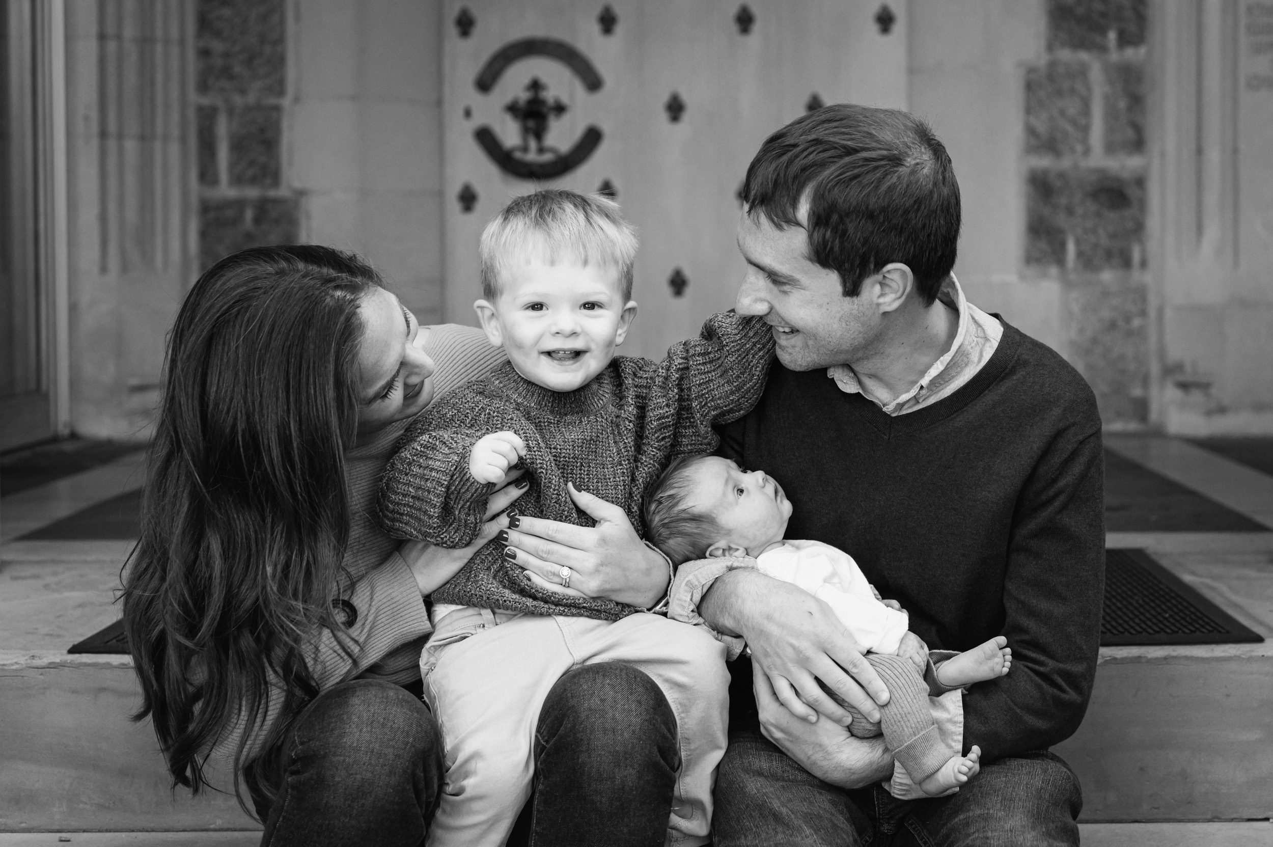
[[353, 250], [442, 320], [440, 0], [294, 0], [300, 236]]

